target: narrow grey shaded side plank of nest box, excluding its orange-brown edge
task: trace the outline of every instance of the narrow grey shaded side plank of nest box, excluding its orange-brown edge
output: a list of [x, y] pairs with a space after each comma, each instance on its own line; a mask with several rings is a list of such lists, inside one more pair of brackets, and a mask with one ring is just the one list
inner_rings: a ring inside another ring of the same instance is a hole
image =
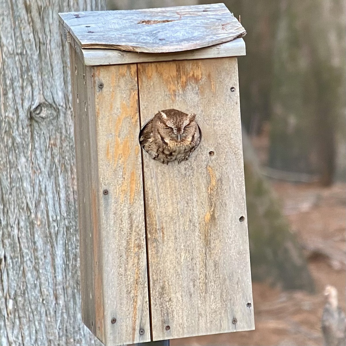
[[91, 167], [88, 102], [85, 83], [86, 68], [70, 46], [70, 67], [72, 80], [74, 138], [76, 148], [76, 176], [78, 198], [78, 228], [80, 238], [80, 272], [83, 323], [97, 335], [95, 312], [95, 280], [93, 257], [93, 218], [91, 196]]

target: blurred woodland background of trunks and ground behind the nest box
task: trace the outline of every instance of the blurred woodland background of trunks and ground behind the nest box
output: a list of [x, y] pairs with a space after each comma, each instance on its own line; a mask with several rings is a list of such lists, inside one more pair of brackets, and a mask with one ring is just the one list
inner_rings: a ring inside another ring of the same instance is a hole
[[326, 285], [345, 311], [345, 0], [224, 3], [247, 31], [238, 64], [256, 330], [171, 345], [322, 345]]

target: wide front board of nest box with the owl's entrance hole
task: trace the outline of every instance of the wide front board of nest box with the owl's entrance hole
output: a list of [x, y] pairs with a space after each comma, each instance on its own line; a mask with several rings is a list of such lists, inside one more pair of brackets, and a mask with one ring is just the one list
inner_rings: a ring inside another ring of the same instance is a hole
[[153, 339], [254, 329], [237, 58], [137, 68], [142, 126], [175, 108], [202, 133], [180, 164], [143, 151]]

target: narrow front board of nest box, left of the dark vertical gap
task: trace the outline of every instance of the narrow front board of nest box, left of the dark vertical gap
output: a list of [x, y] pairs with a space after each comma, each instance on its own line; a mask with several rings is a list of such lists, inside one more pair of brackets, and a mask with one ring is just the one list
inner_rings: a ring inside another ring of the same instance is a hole
[[92, 67], [104, 343], [150, 341], [137, 66]]

